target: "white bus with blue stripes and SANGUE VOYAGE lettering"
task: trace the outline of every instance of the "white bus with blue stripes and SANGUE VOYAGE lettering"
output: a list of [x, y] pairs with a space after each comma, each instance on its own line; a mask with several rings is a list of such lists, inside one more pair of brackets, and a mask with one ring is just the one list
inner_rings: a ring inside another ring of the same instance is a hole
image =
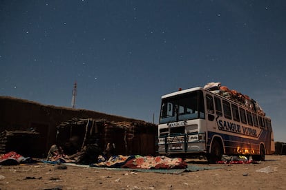
[[202, 155], [211, 163], [221, 160], [222, 154], [265, 160], [265, 154], [275, 151], [274, 134], [271, 119], [260, 110], [202, 87], [166, 94], [158, 153], [182, 158]]

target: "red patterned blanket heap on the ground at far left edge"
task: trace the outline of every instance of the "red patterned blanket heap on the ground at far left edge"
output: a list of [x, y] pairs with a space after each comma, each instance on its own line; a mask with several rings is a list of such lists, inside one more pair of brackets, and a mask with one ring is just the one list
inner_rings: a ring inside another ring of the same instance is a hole
[[25, 158], [15, 151], [10, 151], [7, 154], [0, 156], [0, 165], [19, 165], [22, 162], [26, 162], [30, 158]]

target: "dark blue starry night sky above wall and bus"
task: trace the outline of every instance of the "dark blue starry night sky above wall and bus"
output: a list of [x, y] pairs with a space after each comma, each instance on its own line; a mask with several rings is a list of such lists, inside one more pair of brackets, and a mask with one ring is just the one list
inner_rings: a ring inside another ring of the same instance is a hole
[[0, 96], [158, 123], [163, 94], [214, 81], [286, 142], [286, 1], [0, 0]]

